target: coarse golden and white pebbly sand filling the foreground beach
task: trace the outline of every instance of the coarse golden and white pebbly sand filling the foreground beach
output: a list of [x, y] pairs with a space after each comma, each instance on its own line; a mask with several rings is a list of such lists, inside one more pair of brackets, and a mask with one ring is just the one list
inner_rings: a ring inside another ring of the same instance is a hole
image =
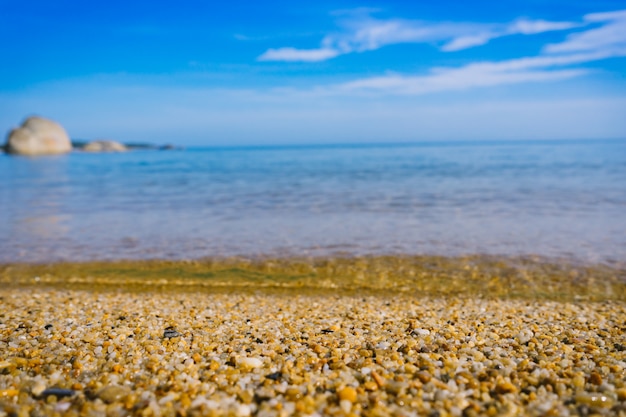
[[45, 267], [2, 275], [0, 415], [626, 415], [620, 297], [89, 287], [29, 268]]

